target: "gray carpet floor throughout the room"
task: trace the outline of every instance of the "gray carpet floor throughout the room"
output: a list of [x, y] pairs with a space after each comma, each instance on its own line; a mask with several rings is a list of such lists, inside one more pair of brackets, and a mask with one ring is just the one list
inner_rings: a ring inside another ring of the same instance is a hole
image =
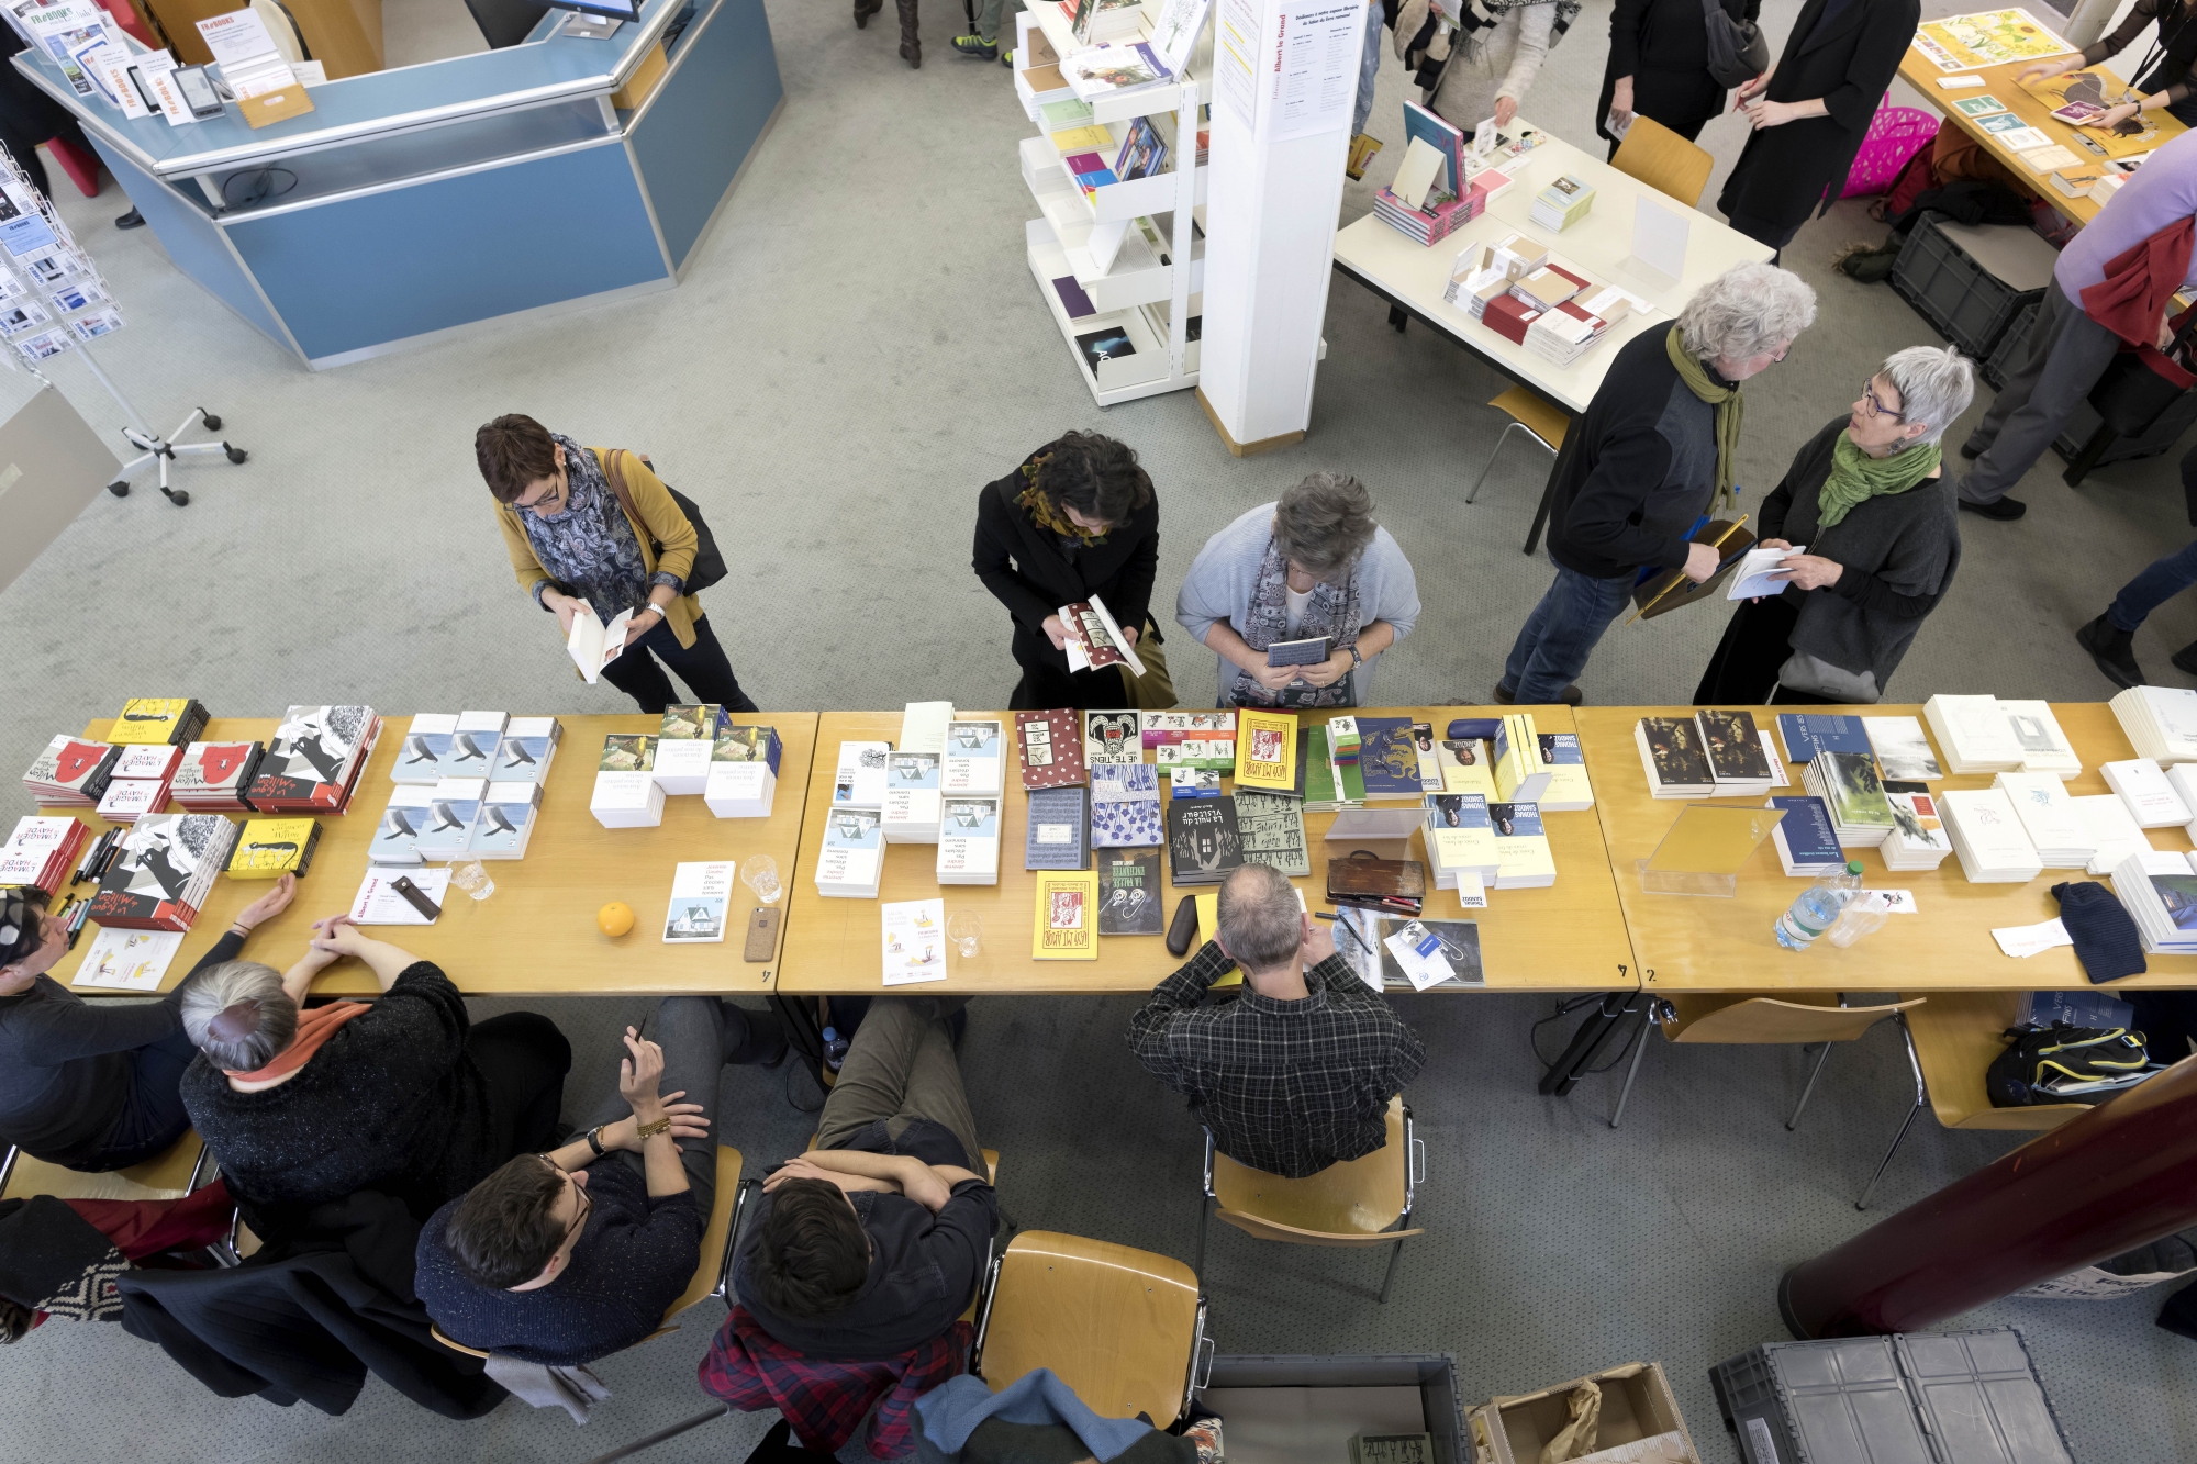
[[[1955, 9], [1933, 0], [1927, 13]], [[958, 7], [929, 11], [929, 59], [910, 73], [883, 20], [855, 31], [839, 2], [771, 4], [787, 110], [679, 290], [492, 323], [332, 374], [299, 369], [242, 325], [149, 233], [114, 233], [108, 220], [125, 204], [112, 189], [64, 198], [132, 321], [101, 347], [105, 367], [160, 426], [198, 402], [220, 411], [253, 459], [185, 468], [187, 510], [145, 490], [101, 495], [0, 589], [0, 620], [29, 631], [0, 703], [0, 767], [29, 765], [53, 732], [108, 717], [127, 695], [189, 692], [237, 717], [314, 699], [622, 710], [609, 686], [573, 681], [510, 580], [470, 457], [472, 429], [501, 411], [646, 448], [701, 501], [736, 552], [736, 574], [710, 594], [714, 622], [767, 708], [1000, 706], [1015, 673], [1004, 615], [964, 569], [973, 495], [1068, 426], [1118, 435], [1149, 464], [1164, 506], [1162, 596], [1244, 508], [1314, 468], [1360, 475], [1426, 602], [1382, 697], [1483, 701], [1549, 578], [1547, 558], [1518, 552], [1544, 459], [1514, 444], [1481, 501], [1461, 501], [1503, 426], [1481, 407], [1503, 382], [1424, 328], [1397, 336], [1378, 299], [1338, 279], [1301, 446], [1228, 457], [1189, 393], [1094, 409], [1022, 257], [1030, 200], [1013, 145], [1028, 123], [1002, 68], [947, 48]], [[1797, 0], [1764, 7], [1773, 42], [1795, 13]], [[1606, 20], [1608, 2], [1593, 0], [1542, 73], [1531, 121], [1588, 136]], [[1399, 158], [1402, 97], [1389, 59], [1373, 132], [1391, 152], [1347, 189], [1345, 222]], [[1720, 160], [1709, 202], [1742, 143], [1736, 119], [1703, 136]], [[1843, 202], [1786, 251], [1821, 292], [1821, 317], [1749, 385], [1742, 481], [1755, 492], [1845, 411], [1885, 352], [1936, 341], [1889, 290], [1830, 270], [1841, 244], [1878, 237], [1883, 226]], [[79, 363], [57, 363], [55, 378], [90, 422], [119, 420]], [[26, 391], [26, 378], [0, 374], [0, 409]], [[2048, 457], [2019, 490], [2026, 521], [1962, 523], [1960, 583], [1892, 697], [2109, 692], [2070, 631], [2188, 539], [2175, 457], [2105, 468], [2078, 492], [2059, 468]], [[1685, 699], [1718, 633], [1714, 609], [1613, 631], [1584, 690], [1597, 703]], [[2197, 605], [2177, 600], [2146, 624], [2138, 655], [2186, 684], [2166, 655], [2193, 637]], [[1211, 655], [1175, 644], [1173, 664], [1184, 697], [1202, 699]], [[0, 791], [0, 809], [29, 805]], [[615, 1079], [613, 1035], [644, 1005], [527, 1005], [580, 1049], [569, 1112], [593, 1106]], [[1529, 1040], [1547, 998], [1399, 1005], [1432, 1053], [1408, 1095], [1430, 1152], [1426, 1240], [1375, 1306], [1378, 1257], [1215, 1227], [1204, 1286], [1222, 1350], [1454, 1352], [1468, 1400], [1661, 1358], [1705, 1457], [1733, 1460], [1707, 1367], [1782, 1337], [1777, 1275], [1867, 1222], [1850, 1200], [1905, 1106], [1896, 1035], [1841, 1049], [1797, 1134], [1780, 1125], [1797, 1053], [1659, 1042], [1613, 1132], [1602, 1112], [1615, 1075], [1571, 1101], [1534, 1095]], [[964, 1068], [1024, 1227], [1189, 1260], [1197, 1130], [1129, 1060], [1131, 1009], [980, 1002]], [[1542, 1042], [1560, 1031], [1542, 1029]], [[723, 1134], [756, 1161], [811, 1130], [784, 1086], [784, 1073], [725, 1075]], [[2010, 1143], [1918, 1121], [1876, 1213]], [[2197, 1457], [2197, 1394], [2184, 1391], [2197, 1350], [2151, 1326], [2155, 1306], [2004, 1301], [1966, 1321], [2023, 1330], [2078, 1460]], [[615, 1398], [584, 1431], [516, 1405], [455, 1424], [380, 1383], [345, 1418], [226, 1402], [114, 1328], [57, 1323], [0, 1358], [0, 1438], [11, 1457], [141, 1464], [584, 1460], [703, 1405], [692, 1369], [718, 1321], [703, 1304], [679, 1332], [602, 1363]], [[714, 1422], [644, 1457], [736, 1460], [765, 1422]]]

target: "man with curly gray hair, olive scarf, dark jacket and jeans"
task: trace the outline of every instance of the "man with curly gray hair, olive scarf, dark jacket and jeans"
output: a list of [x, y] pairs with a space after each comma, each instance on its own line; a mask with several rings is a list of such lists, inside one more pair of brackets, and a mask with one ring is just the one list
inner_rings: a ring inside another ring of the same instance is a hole
[[1700, 288], [1670, 330], [1617, 352], [1555, 459], [1549, 558], [1555, 583], [1527, 615], [1496, 701], [1580, 703], [1577, 677], [1643, 565], [1700, 583], [1718, 554], [1694, 523], [1731, 488], [1740, 382], [1784, 361], [1815, 321], [1815, 290], [1771, 264]]

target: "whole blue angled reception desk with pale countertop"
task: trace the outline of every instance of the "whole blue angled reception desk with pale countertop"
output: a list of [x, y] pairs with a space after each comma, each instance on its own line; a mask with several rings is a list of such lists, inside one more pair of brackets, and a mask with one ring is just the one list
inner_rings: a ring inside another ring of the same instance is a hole
[[125, 119], [51, 59], [15, 66], [83, 123], [178, 268], [321, 369], [679, 284], [784, 99], [762, 0], [648, 0], [609, 40], [565, 20], [314, 86], [312, 112], [259, 130], [235, 103]]

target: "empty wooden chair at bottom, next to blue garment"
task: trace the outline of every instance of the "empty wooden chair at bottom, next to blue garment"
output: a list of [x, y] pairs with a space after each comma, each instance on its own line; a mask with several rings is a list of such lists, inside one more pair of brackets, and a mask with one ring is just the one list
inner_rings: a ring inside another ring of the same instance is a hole
[[1028, 1231], [991, 1264], [969, 1372], [1000, 1391], [1050, 1367], [1101, 1418], [1167, 1429], [1200, 1387], [1206, 1299], [1171, 1255]]

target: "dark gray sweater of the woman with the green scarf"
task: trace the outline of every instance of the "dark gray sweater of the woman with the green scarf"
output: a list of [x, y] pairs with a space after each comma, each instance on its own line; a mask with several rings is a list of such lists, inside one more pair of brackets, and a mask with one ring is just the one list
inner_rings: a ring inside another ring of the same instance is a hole
[[1784, 481], [1762, 501], [1762, 536], [1808, 545], [1808, 554], [1843, 565], [1837, 585], [1786, 587], [1784, 598], [1799, 609], [1791, 644], [1841, 670], [1876, 677], [1883, 692], [1922, 618], [1953, 585], [1960, 521], [1953, 479], [1938, 477], [1859, 503], [1837, 525], [1817, 530], [1817, 492], [1845, 424], [1841, 415], [1793, 457]]

